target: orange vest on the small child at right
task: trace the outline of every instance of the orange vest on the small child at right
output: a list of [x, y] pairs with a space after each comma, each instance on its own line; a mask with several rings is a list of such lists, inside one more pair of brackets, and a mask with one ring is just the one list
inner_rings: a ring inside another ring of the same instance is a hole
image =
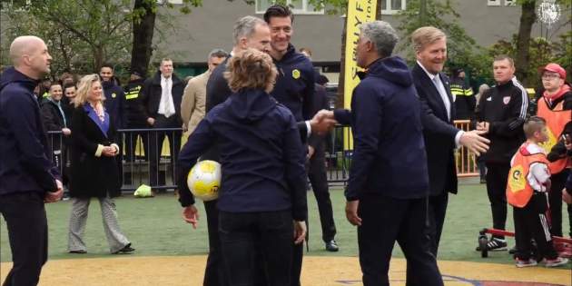
[[544, 153], [528, 153], [528, 143], [524, 143], [518, 148], [507, 182], [507, 202], [513, 206], [523, 208], [532, 197], [532, 187], [528, 183], [527, 177], [532, 163], [548, 164], [547, 156]]

